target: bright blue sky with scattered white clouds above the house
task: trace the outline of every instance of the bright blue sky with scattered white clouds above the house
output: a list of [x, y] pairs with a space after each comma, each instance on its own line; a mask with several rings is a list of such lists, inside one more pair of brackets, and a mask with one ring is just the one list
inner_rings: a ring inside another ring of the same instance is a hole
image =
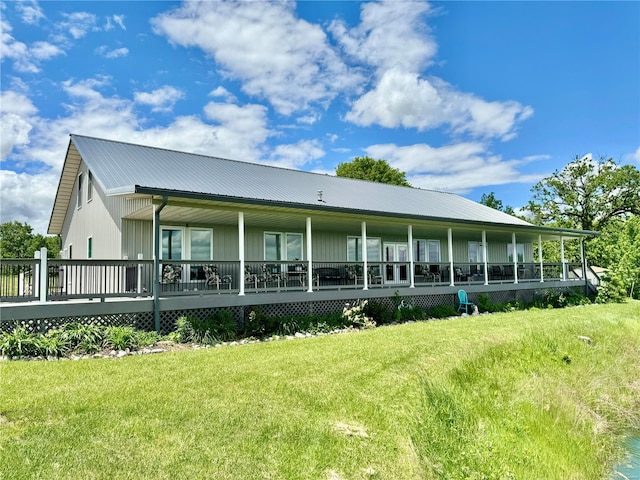
[[[0, 221], [46, 233], [69, 134], [520, 208], [640, 167], [640, 2], [0, 1]], [[176, 166], [179, 169], [179, 166]]]

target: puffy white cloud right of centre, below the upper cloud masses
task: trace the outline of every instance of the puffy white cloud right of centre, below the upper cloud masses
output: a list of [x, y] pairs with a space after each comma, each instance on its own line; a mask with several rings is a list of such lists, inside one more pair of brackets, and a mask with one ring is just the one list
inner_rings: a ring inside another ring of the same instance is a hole
[[533, 109], [518, 102], [486, 102], [456, 91], [437, 79], [393, 68], [384, 72], [375, 88], [354, 104], [345, 119], [361, 126], [426, 130], [449, 126], [456, 133], [508, 140], [518, 122]]

